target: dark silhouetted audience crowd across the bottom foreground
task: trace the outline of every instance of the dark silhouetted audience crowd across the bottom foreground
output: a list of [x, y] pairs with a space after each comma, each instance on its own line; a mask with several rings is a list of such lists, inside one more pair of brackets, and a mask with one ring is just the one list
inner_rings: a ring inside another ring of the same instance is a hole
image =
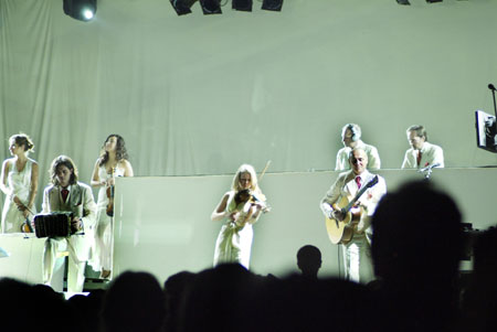
[[[461, 213], [433, 183], [388, 193], [372, 217], [374, 287], [317, 278], [317, 247], [297, 253], [302, 275], [255, 275], [239, 264], [169, 277], [125, 271], [106, 290], [65, 300], [47, 286], [0, 279], [2, 331], [497, 331], [497, 228], [474, 242], [458, 289]], [[462, 296], [459, 297], [459, 294]]]

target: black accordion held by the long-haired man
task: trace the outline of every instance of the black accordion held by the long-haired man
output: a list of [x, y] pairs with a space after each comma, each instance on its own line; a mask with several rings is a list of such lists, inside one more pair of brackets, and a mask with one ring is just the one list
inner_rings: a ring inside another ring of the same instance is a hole
[[36, 237], [67, 237], [76, 233], [71, 227], [72, 212], [52, 212], [34, 216]]

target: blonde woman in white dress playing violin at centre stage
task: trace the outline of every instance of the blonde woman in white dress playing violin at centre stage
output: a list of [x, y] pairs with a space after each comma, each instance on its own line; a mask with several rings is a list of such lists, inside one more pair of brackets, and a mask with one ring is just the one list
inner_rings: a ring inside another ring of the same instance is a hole
[[214, 266], [222, 263], [240, 263], [248, 269], [253, 229], [262, 211], [266, 211], [266, 197], [257, 184], [257, 175], [250, 164], [242, 164], [211, 219], [226, 219], [215, 243]]

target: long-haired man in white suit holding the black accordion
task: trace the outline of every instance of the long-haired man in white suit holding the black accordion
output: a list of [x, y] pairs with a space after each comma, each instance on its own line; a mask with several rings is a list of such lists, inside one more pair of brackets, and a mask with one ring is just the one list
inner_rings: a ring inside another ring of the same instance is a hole
[[[43, 281], [52, 277], [61, 251], [68, 251], [67, 290], [83, 291], [85, 265], [93, 242], [96, 204], [92, 189], [77, 182], [77, 169], [71, 158], [59, 156], [50, 167], [52, 184], [43, 192], [43, 213], [72, 212], [71, 226], [78, 233], [68, 237], [49, 237], [43, 253]], [[60, 268], [60, 266], [57, 266]]]

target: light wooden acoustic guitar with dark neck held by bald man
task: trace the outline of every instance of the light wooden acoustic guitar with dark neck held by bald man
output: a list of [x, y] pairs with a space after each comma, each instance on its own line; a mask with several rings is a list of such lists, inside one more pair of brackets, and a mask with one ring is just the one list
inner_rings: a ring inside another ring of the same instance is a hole
[[346, 245], [352, 239], [363, 208], [359, 207], [353, 208], [353, 211], [350, 210], [355, 206], [356, 202], [362, 196], [362, 194], [377, 183], [378, 175], [371, 179], [366, 185], [362, 185], [352, 200], [341, 197], [337, 203], [331, 205], [334, 210], [339, 210], [342, 214], [345, 214], [345, 218], [342, 221], [326, 217], [326, 231], [328, 232], [328, 237], [334, 245]]

